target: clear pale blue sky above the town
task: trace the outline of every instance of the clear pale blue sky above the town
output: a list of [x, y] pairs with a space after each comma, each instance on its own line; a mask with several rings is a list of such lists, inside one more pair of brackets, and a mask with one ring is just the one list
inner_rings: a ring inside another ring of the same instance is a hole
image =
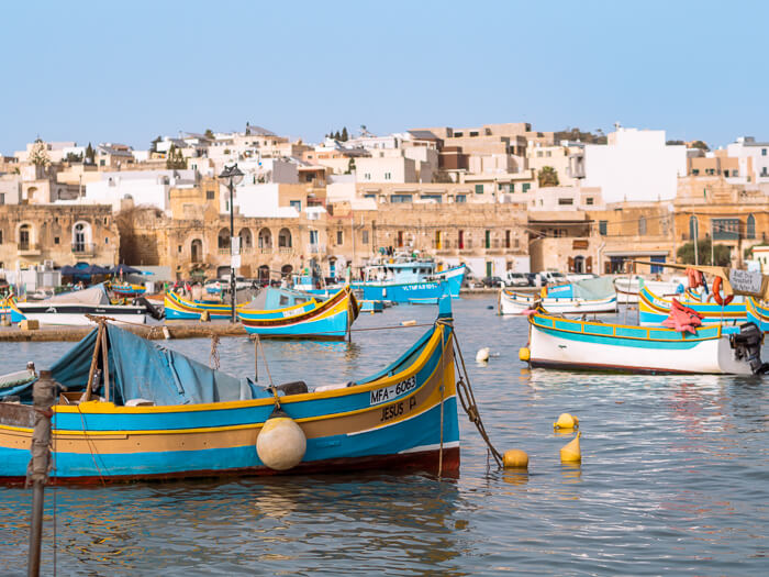
[[531, 122], [769, 140], [769, 2], [3, 3], [0, 152]]

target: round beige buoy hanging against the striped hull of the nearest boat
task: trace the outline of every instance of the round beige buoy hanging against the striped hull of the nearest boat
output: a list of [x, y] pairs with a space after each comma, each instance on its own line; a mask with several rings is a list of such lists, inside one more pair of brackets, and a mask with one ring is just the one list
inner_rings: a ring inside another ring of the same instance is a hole
[[256, 437], [256, 454], [275, 470], [288, 470], [302, 462], [308, 441], [304, 431], [283, 411], [276, 409]]

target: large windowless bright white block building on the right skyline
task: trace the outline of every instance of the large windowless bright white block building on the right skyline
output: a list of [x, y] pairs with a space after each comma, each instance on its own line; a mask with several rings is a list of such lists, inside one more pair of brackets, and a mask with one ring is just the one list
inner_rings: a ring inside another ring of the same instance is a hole
[[665, 131], [617, 127], [608, 144], [584, 146], [584, 187], [605, 202], [670, 200], [687, 175], [687, 148], [665, 144]]

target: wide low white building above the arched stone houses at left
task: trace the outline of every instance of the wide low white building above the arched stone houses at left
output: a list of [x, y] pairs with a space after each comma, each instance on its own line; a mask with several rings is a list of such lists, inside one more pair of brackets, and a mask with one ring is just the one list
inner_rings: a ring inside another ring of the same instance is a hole
[[101, 180], [86, 185], [83, 201], [90, 204], [111, 204], [119, 212], [121, 201], [131, 199], [134, 206], [151, 206], [164, 211], [170, 209], [171, 188], [192, 188], [194, 170], [120, 170], [101, 173]]

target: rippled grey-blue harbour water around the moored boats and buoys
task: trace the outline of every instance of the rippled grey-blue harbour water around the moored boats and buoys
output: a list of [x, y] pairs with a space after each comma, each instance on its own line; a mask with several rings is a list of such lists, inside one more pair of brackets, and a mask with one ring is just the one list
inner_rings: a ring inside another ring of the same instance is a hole
[[[456, 479], [368, 474], [46, 489], [43, 574], [59, 575], [764, 575], [769, 570], [769, 377], [528, 370], [526, 321], [495, 298], [454, 302], [498, 470], [465, 414]], [[435, 307], [363, 314], [353, 343], [264, 342], [276, 381], [367, 376], [424, 328], [363, 331]], [[627, 314], [634, 320], [635, 312]], [[623, 319], [623, 313], [620, 315]], [[611, 318], [604, 318], [609, 320]], [[209, 363], [208, 340], [168, 341]], [[49, 366], [73, 343], [3, 343], [2, 371]], [[476, 351], [490, 347], [488, 364]], [[254, 345], [222, 339], [221, 368], [253, 375]], [[765, 356], [766, 360], [766, 356]], [[267, 371], [259, 359], [260, 382]], [[561, 464], [579, 417], [581, 465]], [[1, 466], [1, 465], [0, 465]], [[0, 487], [0, 575], [26, 572], [32, 491]]]

